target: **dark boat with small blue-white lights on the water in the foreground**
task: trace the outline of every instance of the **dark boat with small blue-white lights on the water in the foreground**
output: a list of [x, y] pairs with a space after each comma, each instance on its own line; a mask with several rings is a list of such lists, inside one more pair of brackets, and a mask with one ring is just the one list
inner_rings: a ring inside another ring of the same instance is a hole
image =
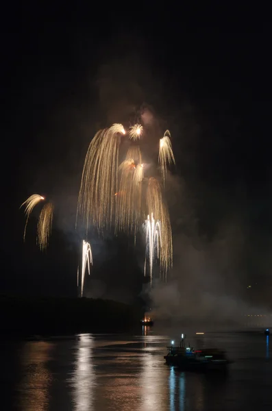
[[183, 371], [226, 371], [230, 360], [225, 351], [219, 349], [193, 349], [184, 347], [184, 340], [179, 347], [167, 347], [169, 352], [164, 356], [167, 365], [176, 366]]

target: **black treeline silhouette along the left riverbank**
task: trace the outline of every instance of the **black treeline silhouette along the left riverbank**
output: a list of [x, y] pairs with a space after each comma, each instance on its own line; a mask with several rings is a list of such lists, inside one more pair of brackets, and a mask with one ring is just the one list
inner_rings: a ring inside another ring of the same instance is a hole
[[143, 315], [138, 306], [86, 298], [0, 297], [1, 334], [127, 332]]

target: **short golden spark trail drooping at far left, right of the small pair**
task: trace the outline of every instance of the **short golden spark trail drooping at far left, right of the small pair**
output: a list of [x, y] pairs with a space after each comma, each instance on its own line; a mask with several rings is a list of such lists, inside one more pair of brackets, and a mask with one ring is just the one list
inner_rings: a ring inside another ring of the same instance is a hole
[[37, 244], [41, 251], [45, 251], [49, 243], [52, 229], [53, 204], [47, 203], [42, 207], [37, 226]]

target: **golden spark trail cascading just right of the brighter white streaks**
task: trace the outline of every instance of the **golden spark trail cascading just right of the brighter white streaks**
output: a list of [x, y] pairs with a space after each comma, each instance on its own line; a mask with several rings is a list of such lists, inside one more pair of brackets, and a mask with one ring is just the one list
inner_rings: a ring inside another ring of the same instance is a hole
[[162, 192], [158, 180], [151, 177], [147, 186], [147, 212], [160, 222], [160, 272], [166, 279], [166, 273], [172, 266], [173, 245], [169, 212], [162, 201]]

